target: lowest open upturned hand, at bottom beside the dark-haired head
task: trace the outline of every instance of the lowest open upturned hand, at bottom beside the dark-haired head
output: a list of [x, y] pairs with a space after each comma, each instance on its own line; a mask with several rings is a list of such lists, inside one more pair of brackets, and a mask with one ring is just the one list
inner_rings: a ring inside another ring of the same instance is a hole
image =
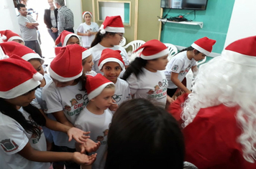
[[75, 152], [73, 153], [72, 160], [80, 165], [91, 165], [96, 160], [96, 155], [97, 154], [88, 156], [83, 153]]

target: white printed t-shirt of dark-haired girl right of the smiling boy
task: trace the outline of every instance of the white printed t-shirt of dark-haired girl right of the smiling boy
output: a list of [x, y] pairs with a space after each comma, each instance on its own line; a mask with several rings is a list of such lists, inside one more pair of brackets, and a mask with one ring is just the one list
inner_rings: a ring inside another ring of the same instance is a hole
[[150, 72], [144, 67], [143, 74], [139, 78], [131, 74], [127, 78], [131, 94], [134, 98], [145, 98], [153, 102], [160, 102], [165, 107], [168, 81], [163, 71]]

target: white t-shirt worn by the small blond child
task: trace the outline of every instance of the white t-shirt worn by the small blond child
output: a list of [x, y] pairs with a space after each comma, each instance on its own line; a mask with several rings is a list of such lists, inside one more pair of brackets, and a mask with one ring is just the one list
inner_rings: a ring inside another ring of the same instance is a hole
[[101, 146], [96, 151], [97, 158], [92, 165], [93, 169], [104, 168], [104, 153], [106, 152], [106, 141], [111, 120], [112, 114], [109, 109], [106, 109], [102, 115], [95, 115], [85, 108], [75, 122], [75, 127], [84, 131], [91, 131], [91, 140], [96, 143], [101, 142]]

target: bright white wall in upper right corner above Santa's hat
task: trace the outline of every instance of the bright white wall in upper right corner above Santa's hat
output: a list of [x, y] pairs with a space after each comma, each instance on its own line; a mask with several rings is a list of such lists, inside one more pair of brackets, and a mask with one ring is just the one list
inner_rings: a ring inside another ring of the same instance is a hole
[[235, 0], [224, 47], [237, 39], [256, 35], [256, 1]]

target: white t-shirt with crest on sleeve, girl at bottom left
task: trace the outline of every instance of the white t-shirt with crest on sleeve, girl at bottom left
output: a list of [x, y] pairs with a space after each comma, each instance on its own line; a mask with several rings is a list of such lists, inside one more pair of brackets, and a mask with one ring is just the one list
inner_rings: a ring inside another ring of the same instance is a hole
[[[22, 108], [19, 109], [19, 112], [22, 112], [22, 115], [27, 120], [30, 120], [31, 117], [29, 113], [25, 112]], [[34, 134], [26, 132], [19, 122], [2, 114], [1, 112], [0, 128], [0, 168], [48, 169], [50, 167], [50, 163], [30, 161], [18, 154], [18, 152], [21, 151], [28, 142], [32, 148], [35, 148], [35, 150], [46, 151], [44, 133], [42, 133], [40, 139], [38, 140], [38, 137], [36, 137]]]

